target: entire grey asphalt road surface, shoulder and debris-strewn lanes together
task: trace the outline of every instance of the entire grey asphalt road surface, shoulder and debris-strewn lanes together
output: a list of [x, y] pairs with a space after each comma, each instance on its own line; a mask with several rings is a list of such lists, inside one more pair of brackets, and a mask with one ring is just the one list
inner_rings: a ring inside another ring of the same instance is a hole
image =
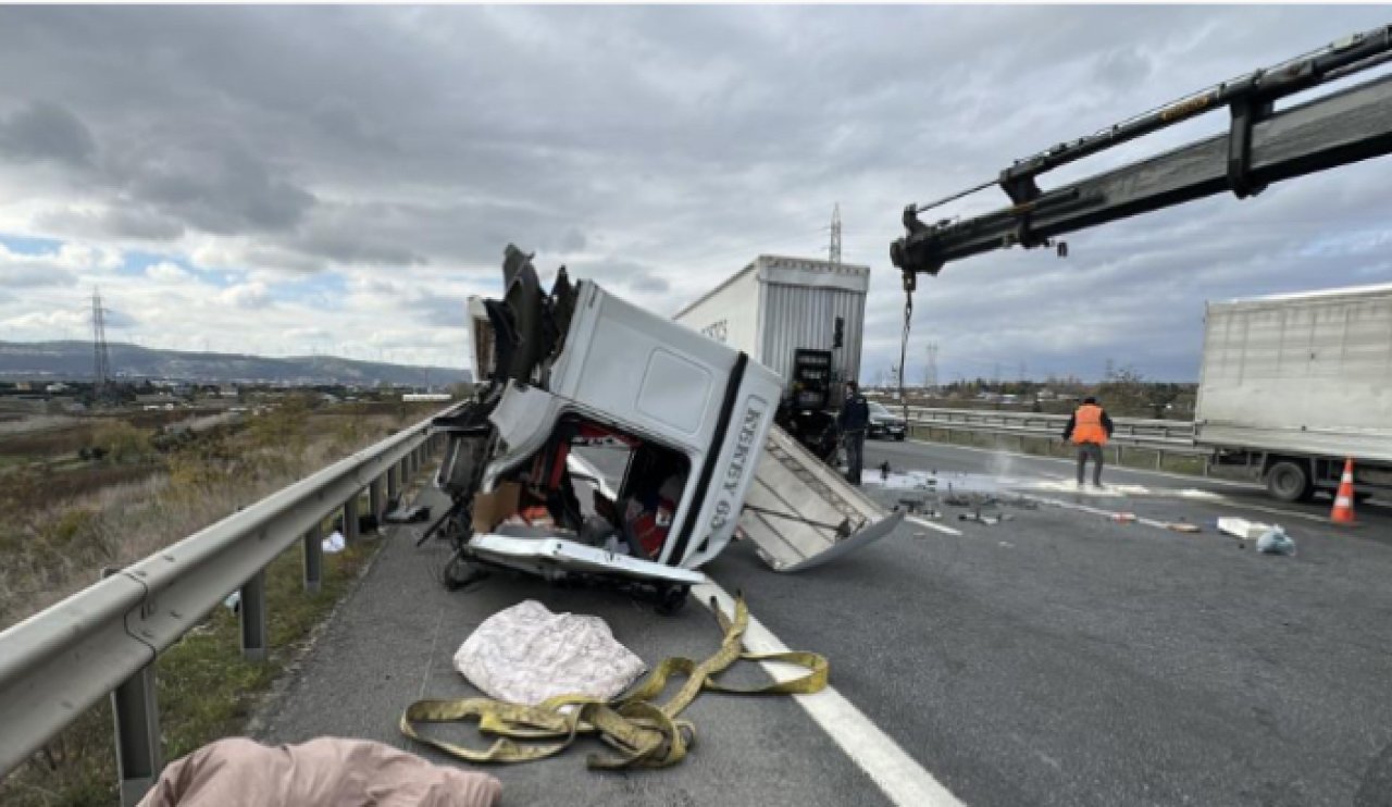
[[[1203, 529], [1050, 505], [1001, 508], [1011, 520], [987, 526], [942, 506], [934, 523], [959, 534], [905, 523], [796, 576], [768, 572], [742, 543], [707, 566], [785, 644], [825, 654], [832, 686], [962, 803], [1392, 804], [1388, 509], [1363, 505], [1361, 527], [1335, 530], [1327, 502], [1278, 505], [1250, 486], [1108, 469], [1112, 491], [1091, 495], [1059, 484], [1072, 468], [1048, 459], [883, 442], [869, 458]], [[1222, 515], [1282, 523], [1297, 554], [1218, 534]], [[397, 733], [401, 710], [475, 694], [450, 657], [529, 597], [603, 616], [650, 664], [717, 643], [695, 604], [664, 618], [617, 593], [508, 575], [445, 593], [432, 582], [438, 547], [416, 550], [411, 530], [387, 541], [263, 739], [362, 736], [443, 760]], [[596, 774], [579, 750], [493, 772], [507, 804], [888, 801], [793, 698], [706, 694], [689, 717], [700, 742], [677, 768]]]

